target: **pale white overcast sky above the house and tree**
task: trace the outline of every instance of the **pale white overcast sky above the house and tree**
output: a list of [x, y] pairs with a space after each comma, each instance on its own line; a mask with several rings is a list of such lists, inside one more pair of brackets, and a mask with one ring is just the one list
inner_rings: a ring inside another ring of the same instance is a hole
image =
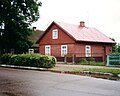
[[40, 0], [40, 18], [32, 26], [45, 30], [53, 22], [94, 27], [120, 43], [120, 0]]

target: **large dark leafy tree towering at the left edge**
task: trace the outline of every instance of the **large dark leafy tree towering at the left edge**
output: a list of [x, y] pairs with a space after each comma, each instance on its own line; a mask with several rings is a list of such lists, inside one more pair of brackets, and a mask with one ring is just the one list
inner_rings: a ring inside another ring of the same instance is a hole
[[29, 26], [39, 18], [38, 0], [0, 0], [0, 48], [24, 51], [32, 45]]

